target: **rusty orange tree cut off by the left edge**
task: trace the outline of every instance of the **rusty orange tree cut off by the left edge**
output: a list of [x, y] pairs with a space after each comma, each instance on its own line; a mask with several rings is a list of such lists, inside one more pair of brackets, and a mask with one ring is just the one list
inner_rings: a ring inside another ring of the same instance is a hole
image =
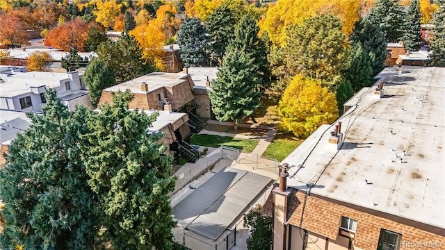
[[0, 14], [0, 44], [29, 45], [26, 24], [15, 15]]

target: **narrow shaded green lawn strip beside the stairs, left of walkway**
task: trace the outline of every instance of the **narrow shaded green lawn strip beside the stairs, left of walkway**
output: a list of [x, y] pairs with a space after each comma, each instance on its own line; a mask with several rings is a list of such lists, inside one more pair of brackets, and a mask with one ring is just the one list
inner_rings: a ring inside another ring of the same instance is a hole
[[248, 140], [240, 138], [232, 138], [229, 136], [219, 136], [219, 135], [192, 135], [190, 138], [190, 144], [200, 145], [203, 147], [220, 147], [221, 145], [227, 147], [233, 147], [235, 149], [240, 149], [243, 152], [250, 153], [257, 147], [257, 140]]

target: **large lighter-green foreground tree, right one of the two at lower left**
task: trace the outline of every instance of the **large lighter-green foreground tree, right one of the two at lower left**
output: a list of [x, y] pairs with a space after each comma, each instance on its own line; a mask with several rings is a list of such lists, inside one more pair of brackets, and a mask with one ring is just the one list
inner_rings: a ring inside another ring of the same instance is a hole
[[99, 199], [104, 239], [114, 249], [171, 249], [172, 157], [161, 154], [163, 135], [147, 131], [157, 115], [128, 110], [132, 97], [127, 91], [113, 97], [113, 106], [90, 111], [81, 159]]

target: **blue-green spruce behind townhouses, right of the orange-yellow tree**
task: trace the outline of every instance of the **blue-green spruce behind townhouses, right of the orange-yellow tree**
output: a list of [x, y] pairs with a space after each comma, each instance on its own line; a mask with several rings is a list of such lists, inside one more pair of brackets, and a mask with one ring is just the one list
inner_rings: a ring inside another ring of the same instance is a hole
[[177, 42], [184, 67], [203, 66], [209, 59], [207, 53], [209, 37], [200, 19], [186, 17], [184, 23], [179, 26]]

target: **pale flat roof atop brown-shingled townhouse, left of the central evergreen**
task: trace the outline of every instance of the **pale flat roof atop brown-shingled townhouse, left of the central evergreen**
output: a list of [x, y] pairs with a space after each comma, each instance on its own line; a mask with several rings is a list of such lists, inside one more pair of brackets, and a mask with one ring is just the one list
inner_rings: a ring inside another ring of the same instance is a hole
[[153, 72], [146, 74], [145, 76], [140, 76], [138, 78], [134, 78], [133, 80], [114, 85], [113, 87], [106, 88], [104, 90], [111, 92], [124, 92], [125, 90], [129, 89], [131, 93], [145, 94], [145, 92], [143, 92], [140, 88], [140, 85], [142, 85], [144, 82], [147, 83], [148, 91], [150, 92], [159, 88], [173, 87], [179, 83], [183, 83], [186, 81], [184, 79], [185, 76], [187, 76], [187, 74]]

